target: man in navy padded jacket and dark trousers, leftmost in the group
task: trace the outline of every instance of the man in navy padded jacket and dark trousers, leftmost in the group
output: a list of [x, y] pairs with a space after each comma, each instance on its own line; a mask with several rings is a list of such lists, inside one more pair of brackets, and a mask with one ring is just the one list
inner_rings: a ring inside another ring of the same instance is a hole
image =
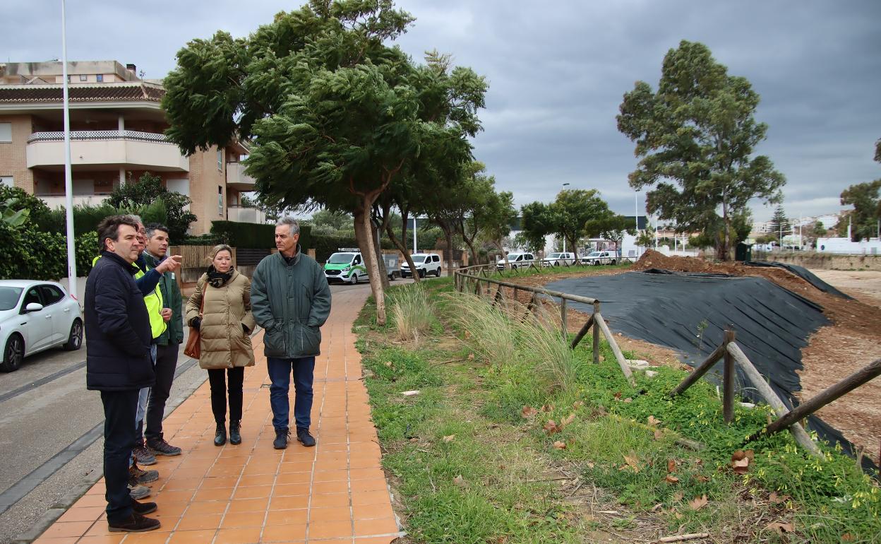
[[85, 282], [85, 383], [100, 391], [104, 405], [104, 480], [110, 531], [142, 532], [159, 528], [144, 518], [156, 503], [129, 496], [129, 459], [135, 444], [137, 394], [153, 383], [150, 317], [131, 266], [142, 249], [137, 223], [111, 216], [98, 225], [101, 258]]

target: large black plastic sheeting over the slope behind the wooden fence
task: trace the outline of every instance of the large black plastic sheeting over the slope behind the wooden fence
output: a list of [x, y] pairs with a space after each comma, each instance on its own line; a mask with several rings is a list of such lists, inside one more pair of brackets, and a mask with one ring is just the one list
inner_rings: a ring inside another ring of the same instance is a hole
[[[765, 278], [750, 276], [651, 269], [561, 279], [546, 287], [596, 298], [612, 331], [670, 347], [692, 367], [706, 360], [722, 344], [724, 330], [732, 328], [737, 332], [737, 345], [790, 409], [797, 406], [792, 393], [802, 388], [796, 374], [796, 369], [803, 369], [801, 350], [811, 333], [829, 324], [817, 303]], [[568, 303], [587, 314], [593, 311], [588, 304]], [[736, 369], [741, 397], [764, 402], [740, 368]], [[721, 373], [722, 364], [717, 363], [707, 377], [721, 383]], [[835, 428], [815, 416], [809, 418], [809, 427], [829, 443], [841, 443], [853, 455], [851, 443]], [[863, 458], [863, 466], [875, 470], [868, 458]]]

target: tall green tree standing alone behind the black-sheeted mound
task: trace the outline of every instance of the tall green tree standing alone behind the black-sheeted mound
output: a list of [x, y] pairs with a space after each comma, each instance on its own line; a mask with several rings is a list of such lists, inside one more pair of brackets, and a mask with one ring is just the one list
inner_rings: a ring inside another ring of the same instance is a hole
[[653, 187], [647, 209], [683, 231], [704, 231], [721, 219], [718, 257], [729, 258], [732, 221], [751, 198], [780, 199], [783, 175], [765, 155], [757, 123], [759, 94], [746, 78], [728, 75], [707, 46], [681, 41], [663, 59], [657, 91], [638, 81], [625, 93], [618, 130], [636, 142], [634, 189]]

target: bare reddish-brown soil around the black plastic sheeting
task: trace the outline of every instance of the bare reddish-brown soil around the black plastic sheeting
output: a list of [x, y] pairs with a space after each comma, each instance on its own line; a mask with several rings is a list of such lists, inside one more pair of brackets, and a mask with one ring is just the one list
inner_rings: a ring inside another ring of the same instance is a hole
[[[839, 382], [846, 376], [881, 357], [881, 272], [812, 270], [820, 279], [853, 296], [847, 300], [826, 294], [807, 281], [782, 268], [745, 266], [742, 263], [713, 263], [694, 257], [665, 257], [653, 250], [647, 251], [629, 270], [662, 268], [675, 272], [725, 273], [735, 276], [760, 276], [823, 307], [832, 324], [811, 335], [808, 347], [802, 350], [804, 369], [799, 372], [802, 391], [799, 399], [811, 399], [818, 392]], [[616, 274], [626, 270], [597, 270], [596, 274]], [[561, 272], [552, 276], [531, 276], [515, 279], [522, 285], [542, 286], [557, 279], [584, 275], [584, 272]], [[521, 293], [520, 302], [529, 301], [529, 294]], [[570, 310], [568, 328], [577, 332], [587, 320], [586, 315]], [[684, 367], [677, 353], [618, 334], [618, 345], [631, 350], [640, 358], [667, 366]], [[881, 461], [881, 377], [825, 406], [818, 412], [824, 421], [838, 428], [857, 448], [870, 458]]]

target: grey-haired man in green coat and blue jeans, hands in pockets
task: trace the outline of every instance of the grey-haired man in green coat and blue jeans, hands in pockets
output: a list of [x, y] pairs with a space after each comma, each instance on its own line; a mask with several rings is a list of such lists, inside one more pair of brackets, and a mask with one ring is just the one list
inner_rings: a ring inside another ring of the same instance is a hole
[[278, 253], [263, 257], [251, 281], [251, 311], [263, 329], [263, 353], [269, 371], [272, 426], [277, 450], [287, 447], [291, 374], [297, 440], [314, 446], [309, 434], [315, 356], [320, 354], [319, 327], [330, 315], [330, 287], [322, 266], [300, 250], [300, 224], [291, 217], [276, 223]]

